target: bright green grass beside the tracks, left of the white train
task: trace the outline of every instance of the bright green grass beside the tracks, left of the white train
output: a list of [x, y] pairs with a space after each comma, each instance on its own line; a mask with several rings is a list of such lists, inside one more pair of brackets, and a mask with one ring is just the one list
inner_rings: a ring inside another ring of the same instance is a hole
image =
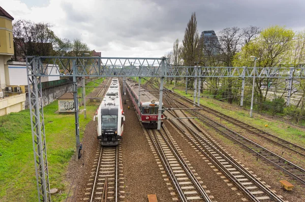
[[[65, 174], [75, 152], [74, 113], [58, 114], [57, 108], [57, 101], [44, 107], [50, 187], [63, 192], [52, 196], [52, 201], [62, 201], [67, 196]], [[87, 106], [87, 119], [80, 114], [81, 138], [95, 110], [95, 106]], [[3, 118], [0, 127], [0, 201], [37, 201], [29, 110], [0, 118]]]

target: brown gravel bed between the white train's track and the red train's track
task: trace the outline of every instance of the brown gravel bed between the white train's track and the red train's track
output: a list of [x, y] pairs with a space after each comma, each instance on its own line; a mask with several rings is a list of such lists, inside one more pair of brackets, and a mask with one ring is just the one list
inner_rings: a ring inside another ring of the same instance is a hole
[[123, 105], [126, 121], [121, 142], [126, 186], [125, 201], [146, 201], [147, 194], [156, 194], [160, 202], [172, 201], [166, 181], [148, 145], [129, 96], [127, 99], [127, 104]]

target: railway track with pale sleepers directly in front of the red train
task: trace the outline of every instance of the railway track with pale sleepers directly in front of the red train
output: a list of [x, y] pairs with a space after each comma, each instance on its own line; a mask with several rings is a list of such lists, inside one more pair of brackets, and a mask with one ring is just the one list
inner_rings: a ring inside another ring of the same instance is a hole
[[211, 202], [212, 200], [202, 187], [203, 182], [196, 177], [197, 174], [182, 156], [175, 142], [172, 141], [166, 127], [163, 126], [160, 131], [144, 127], [143, 130], [153, 143], [178, 195], [178, 198], [173, 198], [173, 200]]

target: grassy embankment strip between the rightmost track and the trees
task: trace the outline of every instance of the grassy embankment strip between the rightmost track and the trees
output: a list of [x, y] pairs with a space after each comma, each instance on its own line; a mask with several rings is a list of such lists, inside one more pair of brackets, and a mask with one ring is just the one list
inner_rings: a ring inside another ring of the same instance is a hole
[[[174, 85], [166, 85], [166, 88], [172, 89]], [[185, 90], [174, 90], [175, 93], [178, 93], [182, 96], [192, 96], [188, 93], [186, 95]], [[193, 97], [187, 97], [188, 99], [193, 100]], [[196, 98], [197, 101], [197, 98]], [[256, 128], [265, 130], [271, 134], [277, 135], [280, 138], [291, 141], [295, 144], [305, 147], [305, 132], [300, 130], [298, 127], [293, 127], [290, 124], [282, 122], [277, 119], [267, 119], [263, 115], [256, 114], [254, 112], [254, 118], [249, 117], [249, 110], [245, 110], [236, 105], [231, 105], [229, 103], [221, 102], [215, 99], [201, 98], [200, 104], [203, 104], [207, 107], [220, 111], [226, 115], [232, 116], [242, 122], [250, 124]], [[234, 108], [234, 110], [232, 110]], [[268, 125], [268, 127], [264, 127]]]

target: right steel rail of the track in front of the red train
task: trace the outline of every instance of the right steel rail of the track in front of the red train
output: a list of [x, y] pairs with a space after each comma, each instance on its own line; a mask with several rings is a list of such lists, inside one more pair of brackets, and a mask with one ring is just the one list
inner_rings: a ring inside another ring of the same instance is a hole
[[[202, 188], [202, 186], [200, 185], [198, 179], [196, 178], [196, 176], [194, 175], [194, 173], [192, 172], [191, 168], [188, 166], [187, 162], [185, 161], [185, 159], [181, 156], [181, 154], [179, 153], [177, 147], [174, 145], [173, 141], [171, 140], [171, 138], [168, 135], [168, 132], [166, 131], [166, 127], [162, 126], [162, 132], [164, 132], [168, 138], [163, 135], [163, 133], [161, 133], [161, 130], [158, 131], [158, 133], [162, 136], [162, 138], [164, 139], [164, 141], [166, 142], [166, 144], [168, 145], [168, 147], [171, 149], [171, 151], [174, 153], [175, 157], [178, 159], [180, 165], [182, 166], [182, 168], [186, 171], [186, 173], [188, 174], [188, 176], [190, 177], [190, 179], [192, 180], [193, 184], [196, 186], [197, 190], [200, 192], [201, 197], [205, 200], [205, 201], [211, 201], [210, 198], [208, 197], [207, 193], [204, 191], [204, 189]], [[154, 130], [154, 132], [156, 132], [156, 130]]]

